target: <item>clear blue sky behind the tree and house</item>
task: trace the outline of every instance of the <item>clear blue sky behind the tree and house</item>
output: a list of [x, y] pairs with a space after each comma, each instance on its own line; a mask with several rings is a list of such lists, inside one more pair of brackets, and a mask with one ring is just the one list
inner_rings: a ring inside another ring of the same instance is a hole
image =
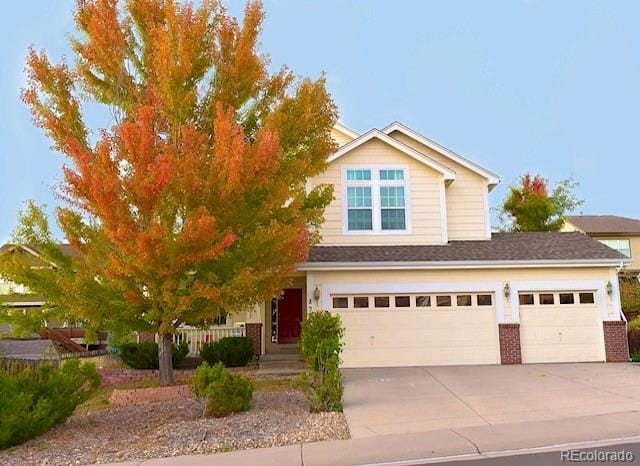
[[[69, 53], [72, 0], [0, 16], [0, 241], [26, 199], [57, 200], [63, 157], [20, 102], [29, 44]], [[240, 1], [227, 2], [234, 14]], [[274, 66], [325, 71], [344, 124], [399, 120], [497, 172], [573, 177], [583, 213], [640, 217], [640, 2], [267, 0]], [[98, 120], [97, 116], [92, 118]]]

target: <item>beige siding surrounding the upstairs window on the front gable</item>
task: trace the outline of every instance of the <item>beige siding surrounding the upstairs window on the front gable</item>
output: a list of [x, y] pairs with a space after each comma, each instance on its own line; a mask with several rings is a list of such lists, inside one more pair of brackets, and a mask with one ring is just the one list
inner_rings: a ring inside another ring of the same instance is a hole
[[[344, 167], [401, 166], [408, 173], [408, 211], [410, 233], [343, 234]], [[311, 181], [312, 186], [332, 184], [334, 200], [325, 210], [320, 229], [322, 244], [433, 244], [442, 242], [440, 228], [440, 184], [442, 175], [397, 149], [373, 139], [329, 164], [326, 171]]]

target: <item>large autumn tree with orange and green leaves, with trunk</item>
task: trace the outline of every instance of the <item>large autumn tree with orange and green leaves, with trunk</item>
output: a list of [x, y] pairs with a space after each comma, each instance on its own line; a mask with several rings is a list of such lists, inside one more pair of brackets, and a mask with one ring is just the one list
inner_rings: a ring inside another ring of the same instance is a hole
[[[30, 274], [88, 326], [157, 332], [162, 384], [176, 327], [277, 293], [332, 198], [306, 181], [335, 150], [336, 108], [323, 77], [269, 72], [263, 18], [257, 1], [239, 23], [208, 0], [78, 0], [74, 63], [29, 51], [22, 96], [67, 157], [56, 218], [77, 254], [63, 257], [31, 206], [16, 241], [57, 273], [15, 255], [3, 273]], [[112, 125], [92, 130], [87, 103]]]

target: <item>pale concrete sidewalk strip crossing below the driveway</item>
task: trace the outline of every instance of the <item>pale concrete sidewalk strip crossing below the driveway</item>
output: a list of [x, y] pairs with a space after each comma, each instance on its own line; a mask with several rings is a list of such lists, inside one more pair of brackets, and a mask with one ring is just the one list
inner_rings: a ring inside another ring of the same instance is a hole
[[[635, 437], [635, 438], [634, 438]], [[119, 466], [338, 466], [422, 463], [495, 457], [513, 450], [554, 450], [566, 444], [640, 441], [640, 412], [554, 421], [496, 424], [404, 435], [308, 443], [215, 455], [158, 458]], [[450, 458], [445, 458], [450, 457]], [[453, 458], [452, 458], [453, 457]], [[457, 458], [456, 458], [457, 457]], [[112, 465], [113, 466], [113, 465]]]

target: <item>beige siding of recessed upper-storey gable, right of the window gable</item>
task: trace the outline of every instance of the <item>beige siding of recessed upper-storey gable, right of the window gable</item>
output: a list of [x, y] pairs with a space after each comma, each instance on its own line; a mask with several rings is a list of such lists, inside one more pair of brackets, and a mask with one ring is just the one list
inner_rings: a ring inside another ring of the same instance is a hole
[[456, 172], [455, 181], [446, 189], [449, 240], [486, 239], [490, 222], [485, 206], [486, 179], [409, 136], [397, 131], [390, 136]]

